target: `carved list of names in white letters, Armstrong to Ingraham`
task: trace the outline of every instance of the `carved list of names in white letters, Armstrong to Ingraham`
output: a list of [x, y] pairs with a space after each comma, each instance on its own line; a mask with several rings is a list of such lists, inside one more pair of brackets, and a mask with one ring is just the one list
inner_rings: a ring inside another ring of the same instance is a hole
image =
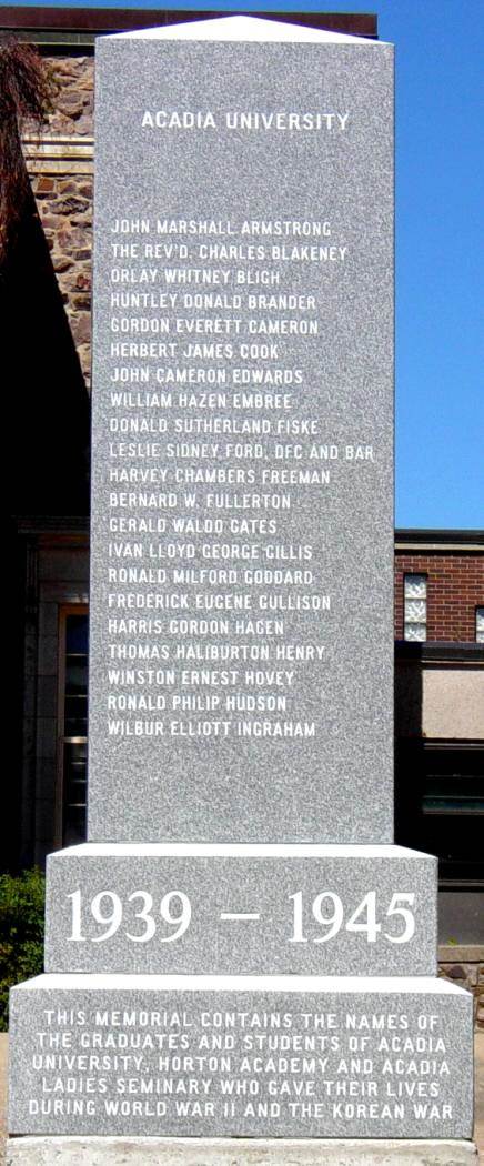
[[338, 595], [300, 503], [378, 458], [311, 416], [297, 359], [344, 231], [161, 212], [113, 218], [108, 248], [106, 733], [314, 739], [301, 681], [324, 688]]

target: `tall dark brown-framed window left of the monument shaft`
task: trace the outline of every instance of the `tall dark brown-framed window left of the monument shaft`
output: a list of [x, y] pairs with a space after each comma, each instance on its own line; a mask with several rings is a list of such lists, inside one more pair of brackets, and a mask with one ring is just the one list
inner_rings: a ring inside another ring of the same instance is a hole
[[59, 763], [62, 773], [62, 845], [85, 841], [87, 754], [87, 611], [61, 611]]

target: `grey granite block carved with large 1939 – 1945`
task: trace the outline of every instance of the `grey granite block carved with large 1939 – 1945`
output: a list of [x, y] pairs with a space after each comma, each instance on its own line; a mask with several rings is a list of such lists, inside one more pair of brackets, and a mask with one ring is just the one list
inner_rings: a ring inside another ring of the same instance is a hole
[[86, 843], [48, 862], [51, 972], [432, 976], [436, 941], [436, 861], [402, 847]]

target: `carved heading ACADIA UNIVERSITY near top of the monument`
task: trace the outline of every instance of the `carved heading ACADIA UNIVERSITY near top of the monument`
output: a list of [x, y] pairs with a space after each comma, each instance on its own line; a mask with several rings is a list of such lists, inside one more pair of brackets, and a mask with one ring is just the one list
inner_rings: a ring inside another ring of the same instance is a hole
[[288, 131], [327, 131], [328, 133], [346, 129], [350, 114], [321, 113], [317, 111], [293, 113], [278, 110], [272, 113], [253, 111], [226, 111], [212, 113], [210, 110], [145, 110], [141, 117], [142, 129], [288, 129]]

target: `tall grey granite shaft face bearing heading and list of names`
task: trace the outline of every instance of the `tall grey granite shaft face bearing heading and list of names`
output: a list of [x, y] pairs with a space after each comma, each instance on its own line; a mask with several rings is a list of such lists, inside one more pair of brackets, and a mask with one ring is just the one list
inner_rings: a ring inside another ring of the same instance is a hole
[[98, 57], [90, 838], [391, 842], [392, 49]]

